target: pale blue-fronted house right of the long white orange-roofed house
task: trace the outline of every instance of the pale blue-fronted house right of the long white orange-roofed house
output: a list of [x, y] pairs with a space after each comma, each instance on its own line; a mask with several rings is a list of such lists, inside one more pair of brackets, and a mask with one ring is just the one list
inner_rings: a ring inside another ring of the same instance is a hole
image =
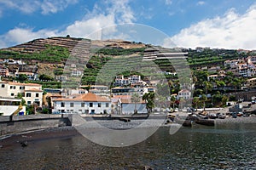
[[134, 114], [135, 110], [137, 110], [137, 114], [148, 113], [146, 101], [139, 99], [139, 101], [135, 103], [131, 100], [131, 95], [114, 96], [111, 101], [113, 104], [113, 113], [118, 115], [131, 115]]

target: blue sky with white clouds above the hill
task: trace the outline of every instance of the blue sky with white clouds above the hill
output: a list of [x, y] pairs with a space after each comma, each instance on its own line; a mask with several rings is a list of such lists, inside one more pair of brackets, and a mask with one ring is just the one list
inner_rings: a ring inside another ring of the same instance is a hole
[[255, 27], [252, 0], [0, 0], [0, 48], [104, 32], [166, 47], [256, 49]]

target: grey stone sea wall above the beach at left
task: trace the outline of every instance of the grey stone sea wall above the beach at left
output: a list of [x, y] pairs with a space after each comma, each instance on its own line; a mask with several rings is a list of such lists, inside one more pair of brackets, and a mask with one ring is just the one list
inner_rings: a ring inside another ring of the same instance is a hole
[[61, 126], [71, 126], [68, 115], [0, 116], [0, 136]]

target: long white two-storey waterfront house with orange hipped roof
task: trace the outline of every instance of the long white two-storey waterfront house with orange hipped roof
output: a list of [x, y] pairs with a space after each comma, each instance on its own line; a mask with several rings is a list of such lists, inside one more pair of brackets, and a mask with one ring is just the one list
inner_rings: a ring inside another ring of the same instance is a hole
[[53, 100], [53, 113], [105, 114], [110, 111], [110, 100], [92, 93]]

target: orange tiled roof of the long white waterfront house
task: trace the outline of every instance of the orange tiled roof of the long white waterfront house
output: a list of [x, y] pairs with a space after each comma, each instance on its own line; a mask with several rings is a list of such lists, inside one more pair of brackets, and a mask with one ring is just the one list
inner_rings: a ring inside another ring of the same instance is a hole
[[81, 94], [73, 99], [67, 99], [67, 98], [60, 98], [55, 99], [55, 101], [97, 101], [97, 102], [110, 102], [109, 99], [98, 96], [96, 94]]

